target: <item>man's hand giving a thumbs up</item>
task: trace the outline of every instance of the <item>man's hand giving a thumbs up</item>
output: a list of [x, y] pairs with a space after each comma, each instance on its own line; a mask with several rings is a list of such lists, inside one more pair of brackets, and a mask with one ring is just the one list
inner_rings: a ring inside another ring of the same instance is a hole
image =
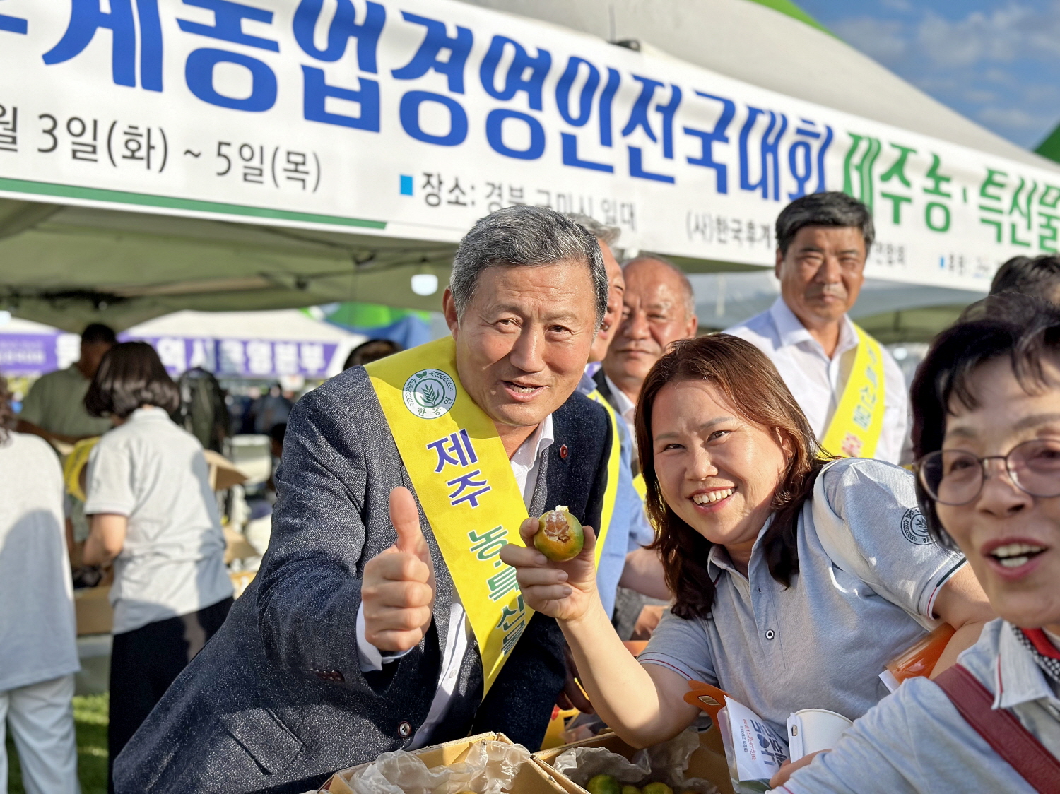
[[365, 638], [381, 651], [407, 651], [430, 628], [435, 566], [407, 488], [390, 492], [390, 523], [398, 542], [368, 561], [360, 583]]

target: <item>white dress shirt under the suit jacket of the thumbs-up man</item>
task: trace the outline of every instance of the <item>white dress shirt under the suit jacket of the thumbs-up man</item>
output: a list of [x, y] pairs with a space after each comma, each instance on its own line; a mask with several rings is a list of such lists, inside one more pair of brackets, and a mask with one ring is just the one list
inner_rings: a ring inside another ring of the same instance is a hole
[[[519, 448], [512, 455], [509, 463], [512, 466], [512, 474], [515, 475], [515, 482], [523, 492], [523, 501], [530, 507], [533, 498], [534, 487], [537, 484], [537, 472], [541, 469], [541, 459], [545, 452], [555, 440], [552, 430], [552, 414], [545, 417], [545, 420], [537, 425], [537, 429], [531, 434], [530, 438], [524, 441]], [[430, 711], [423, 725], [416, 731], [412, 742], [406, 749], [417, 749], [425, 747], [430, 743], [430, 736], [435, 728], [445, 719], [448, 711], [449, 701], [453, 700], [453, 687], [456, 686], [457, 675], [460, 673], [460, 665], [463, 663], [464, 653], [467, 651], [467, 642], [472, 636], [471, 623], [467, 622], [467, 614], [464, 612], [460, 596], [454, 588], [453, 603], [449, 604], [449, 628], [446, 633], [445, 648], [442, 653], [441, 672], [438, 676], [438, 688], [435, 690], [435, 699], [430, 702]], [[407, 652], [406, 652], [407, 653]], [[360, 658], [361, 672], [382, 670], [383, 666], [394, 659], [404, 656], [404, 653], [388, 654], [383, 656], [375, 646], [371, 645], [365, 636], [365, 607], [364, 604], [357, 607], [357, 656]]]

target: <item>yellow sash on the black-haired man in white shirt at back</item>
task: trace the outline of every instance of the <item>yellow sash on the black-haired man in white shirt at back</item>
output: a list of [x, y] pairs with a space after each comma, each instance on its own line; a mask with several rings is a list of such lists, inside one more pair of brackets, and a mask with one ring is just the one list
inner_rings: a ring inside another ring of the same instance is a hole
[[820, 440], [826, 453], [871, 458], [883, 433], [884, 373], [880, 342], [854, 325], [858, 351], [847, 385]]

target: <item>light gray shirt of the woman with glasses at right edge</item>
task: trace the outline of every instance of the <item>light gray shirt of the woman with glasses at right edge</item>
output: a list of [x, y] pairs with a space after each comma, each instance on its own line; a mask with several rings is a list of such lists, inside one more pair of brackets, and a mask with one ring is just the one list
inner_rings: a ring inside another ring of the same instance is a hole
[[[1060, 758], [1057, 689], [1001, 618], [958, 661], [994, 693], [1054, 756]], [[835, 749], [792, 775], [788, 794], [913, 794], [914, 792], [1034, 792], [1014, 769], [926, 678], [911, 678], [854, 723]]]

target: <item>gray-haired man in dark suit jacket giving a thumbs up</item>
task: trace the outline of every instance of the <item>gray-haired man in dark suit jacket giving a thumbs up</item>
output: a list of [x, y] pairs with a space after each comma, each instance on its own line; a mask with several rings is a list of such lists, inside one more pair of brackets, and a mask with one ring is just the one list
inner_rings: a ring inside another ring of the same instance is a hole
[[[453, 340], [431, 345], [455, 348], [530, 515], [566, 505], [599, 527], [605, 512], [617, 440], [575, 387], [606, 300], [596, 240], [551, 210], [499, 210], [457, 251], [443, 298]], [[462, 580], [375, 374], [354, 367], [295, 406], [261, 570], [118, 757], [119, 794], [304, 792], [381, 753], [483, 730], [541, 744], [566, 676], [562, 634], [534, 614], [483, 698]]]

